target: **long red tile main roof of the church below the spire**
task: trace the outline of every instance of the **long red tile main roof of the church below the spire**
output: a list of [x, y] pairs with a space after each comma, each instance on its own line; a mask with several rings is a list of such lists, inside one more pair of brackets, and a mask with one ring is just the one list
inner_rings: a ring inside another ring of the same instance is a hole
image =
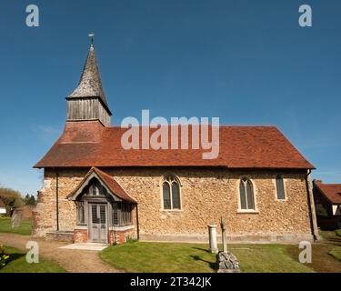
[[[141, 133], [141, 127], [139, 130]], [[153, 130], [150, 129], [150, 135]], [[67, 122], [63, 135], [35, 167], [315, 168], [274, 126], [220, 126], [219, 156], [211, 160], [202, 158], [202, 154], [207, 152], [203, 149], [125, 150], [121, 146], [121, 136], [125, 131], [120, 127], [104, 127], [99, 122]], [[191, 143], [191, 128], [188, 132]]]

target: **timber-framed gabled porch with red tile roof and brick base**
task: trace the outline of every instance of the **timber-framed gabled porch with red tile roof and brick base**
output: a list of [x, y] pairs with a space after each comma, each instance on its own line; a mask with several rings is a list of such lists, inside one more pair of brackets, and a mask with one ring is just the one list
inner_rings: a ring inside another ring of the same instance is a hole
[[74, 243], [122, 244], [135, 236], [135, 200], [115, 181], [92, 168], [68, 200], [76, 205]]

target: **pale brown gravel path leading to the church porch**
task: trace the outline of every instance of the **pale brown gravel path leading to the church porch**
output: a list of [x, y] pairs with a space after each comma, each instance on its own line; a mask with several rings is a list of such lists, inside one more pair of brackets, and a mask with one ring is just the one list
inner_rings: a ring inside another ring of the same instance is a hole
[[39, 244], [40, 255], [54, 260], [66, 271], [72, 273], [119, 273], [113, 266], [103, 262], [96, 251], [60, 249], [59, 246], [65, 246], [67, 243], [45, 241], [30, 236], [19, 236], [14, 234], [0, 233], [0, 243], [4, 246], [13, 246], [22, 251], [26, 243], [35, 241]]

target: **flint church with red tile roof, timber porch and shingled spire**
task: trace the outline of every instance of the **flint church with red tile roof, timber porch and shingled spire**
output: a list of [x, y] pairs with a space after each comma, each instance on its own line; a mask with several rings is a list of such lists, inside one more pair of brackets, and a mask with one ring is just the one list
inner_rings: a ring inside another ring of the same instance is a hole
[[318, 236], [315, 167], [275, 126], [221, 125], [216, 159], [203, 159], [201, 149], [126, 150], [126, 129], [111, 125], [115, 105], [105, 97], [94, 45], [66, 103], [64, 132], [35, 165], [44, 169], [35, 236], [207, 242], [207, 226], [221, 217], [229, 241]]

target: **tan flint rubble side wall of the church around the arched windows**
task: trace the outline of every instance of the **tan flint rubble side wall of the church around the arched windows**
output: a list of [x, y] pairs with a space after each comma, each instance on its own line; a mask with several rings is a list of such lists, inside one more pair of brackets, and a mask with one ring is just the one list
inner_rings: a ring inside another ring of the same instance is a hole
[[[75, 203], [68, 196], [89, 169], [60, 169], [59, 225], [61, 230], [76, 228]], [[138, 202], [135, 232], [146, 240], [206, 240], [207, 225], [219, 226], [226, 218], [227, 238], [235, 241], [298, 241], [312, 239], [306, 172], [266, 170], [236, 171], [199, 168], [104, 169]], [[163, 210], [162, 179], [175, 174], [181, 183], [181, 210]], [[285, 178], [286, 200], [276, 199], [276, 175]], [[256, 212], [238, 211], [239, 181], [248, 177], [254, 184]], [[134, 214], [135, 216], [135, 214]], [[35, 209], [36, 236], [55, 230], [55, 172], [45, 170], [45, 187]], [[219, 231], [219, 229], [218, 229]], [[136, 236], [136, 233], [135, 233]]]

